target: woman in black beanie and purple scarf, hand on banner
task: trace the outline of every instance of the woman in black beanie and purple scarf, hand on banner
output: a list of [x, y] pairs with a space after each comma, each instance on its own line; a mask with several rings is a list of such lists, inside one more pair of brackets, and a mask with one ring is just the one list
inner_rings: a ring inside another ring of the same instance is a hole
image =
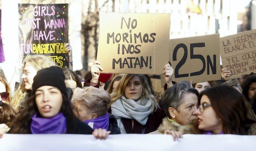
[[[92, 128], [73, 114], [64, 80], [64, 73], [57, 66], [38, 71], [32, 85], [32, 96], [20, 110], [14, 127], [8, 133], [92, 134]], [[99, 132], [102, 131], [97, 130], [96, 138]], [[105, 133], [103, 139], [108, 136], [108, 132]]]

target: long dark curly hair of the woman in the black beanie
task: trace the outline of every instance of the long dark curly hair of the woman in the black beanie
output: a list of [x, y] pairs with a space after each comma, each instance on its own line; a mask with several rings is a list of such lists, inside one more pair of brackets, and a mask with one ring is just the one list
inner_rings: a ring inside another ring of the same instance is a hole
[[[61, 93], [62, 94], [62, 93]], [[72, 111], [72, 104], [68, 98], [62, 94], [62, 105], [60, 112], [67, 119], [67, 133], [76, 133], [78, 131], [76, 127], [76, 117]], [[38, 111], [35, 101], [35, 94], [26, 100], [25, 107], [20, 109], [18, 116], [13, 121], [13, 127], [9, 133], [12, 134], [30, 134], [31, 117]]]

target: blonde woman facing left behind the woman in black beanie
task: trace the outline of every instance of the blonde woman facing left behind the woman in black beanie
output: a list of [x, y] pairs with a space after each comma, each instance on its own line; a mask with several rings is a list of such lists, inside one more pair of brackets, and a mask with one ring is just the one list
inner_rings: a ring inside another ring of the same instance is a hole
[[12, 97], [11, 105], [14, 109], [20, 110], [21, 107], [24, 107], [26, 98], [31, 95], [33, 78], [36, 73], [50, 66], [56, 66], [56, 64], [44, 55], [32, 55], [24, 60], [24, 65], [20, 71], [22, 81]]

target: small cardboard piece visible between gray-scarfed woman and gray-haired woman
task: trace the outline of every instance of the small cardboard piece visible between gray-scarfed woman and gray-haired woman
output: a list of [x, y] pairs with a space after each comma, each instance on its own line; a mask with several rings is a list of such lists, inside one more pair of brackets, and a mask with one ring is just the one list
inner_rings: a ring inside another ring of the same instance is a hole
[[161, 79], [150, 78], [156, 101], [159, 102], [164, 96], [164, 88], [161, 87]]

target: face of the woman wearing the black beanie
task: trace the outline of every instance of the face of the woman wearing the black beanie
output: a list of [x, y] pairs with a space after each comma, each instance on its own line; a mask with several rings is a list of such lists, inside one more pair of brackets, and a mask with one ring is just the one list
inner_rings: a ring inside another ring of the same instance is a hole
[[62, 95], [57, 87], [42, 86], [36, 89], [36, 106], [44, 118], [51, 118], [60, 112]]

